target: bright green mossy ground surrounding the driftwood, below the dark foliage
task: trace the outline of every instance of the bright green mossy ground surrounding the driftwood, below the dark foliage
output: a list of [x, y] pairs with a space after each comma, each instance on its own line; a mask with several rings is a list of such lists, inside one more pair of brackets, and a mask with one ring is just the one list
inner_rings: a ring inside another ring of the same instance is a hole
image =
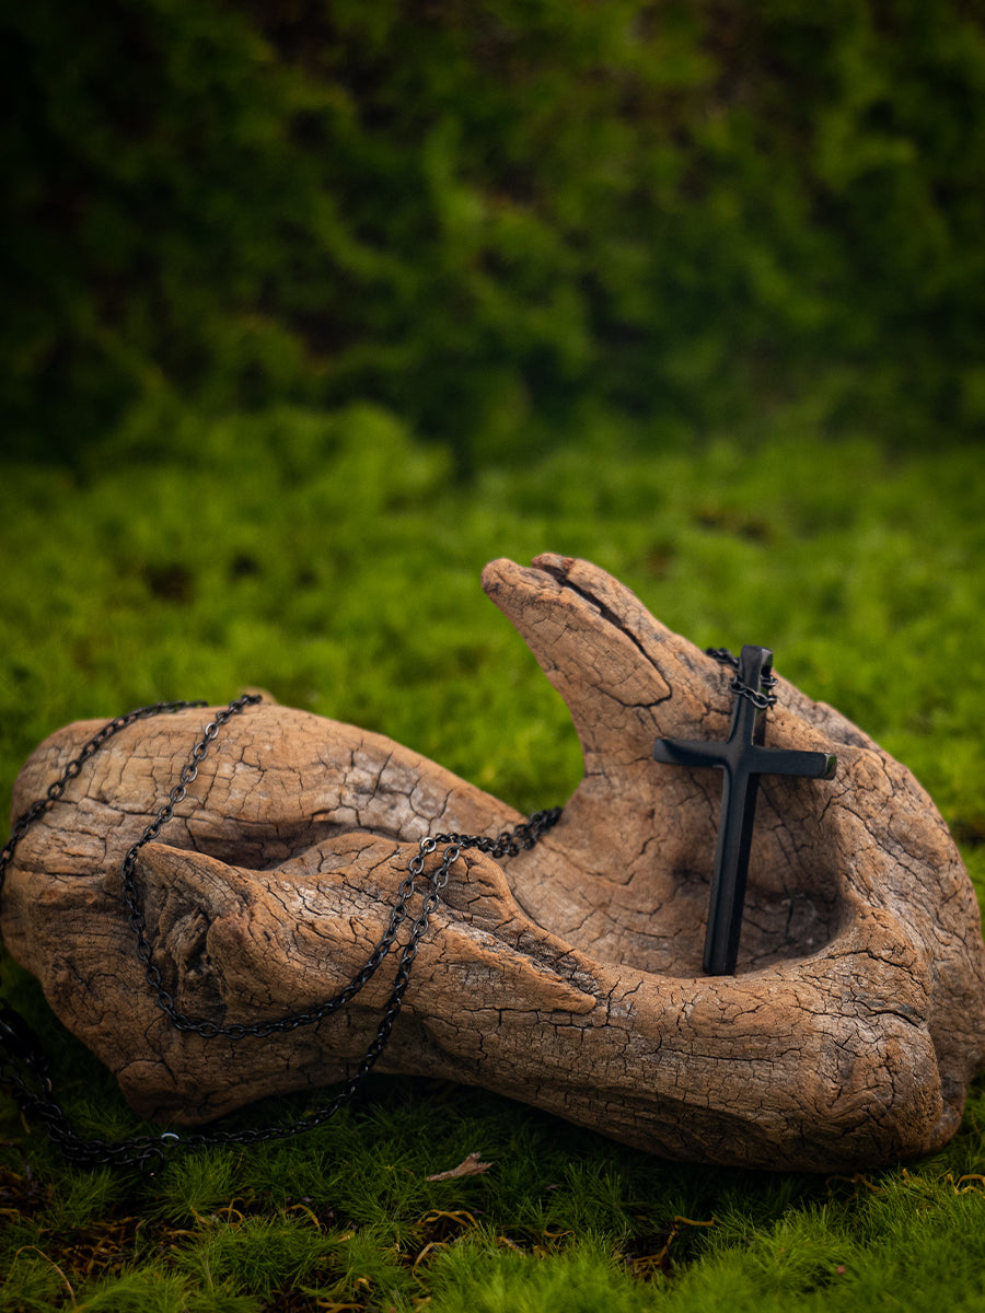
[[[147, 421], [147, 432], [152, 425]], [[521, 809], [579, 777], [566, 713], [482, 596], [496, 555], [584, 555], [701, 645], [764, 642], [930, 789], [985, 898], [985, 517], [971, 449], [591, 431], [454, 478], [389, 412], [139, 415], [74, 474], [0, 479], [0, 784], [51, 729], [171, 699], [381, 730]], [[66, 1104], [137, 1129], [11, 964]], [[302, 1112], [303, 1099], [242, 1124]], [[981, 1309], [985, 1085], [942, 1153], [851, 1179], [676, 1166], [482, 1091], [378, 1077], [303, 1137], [64, 1166], [0, 1102], [0, 1309]], [[481, 1175], [428, 1182], [478, 1152]]]

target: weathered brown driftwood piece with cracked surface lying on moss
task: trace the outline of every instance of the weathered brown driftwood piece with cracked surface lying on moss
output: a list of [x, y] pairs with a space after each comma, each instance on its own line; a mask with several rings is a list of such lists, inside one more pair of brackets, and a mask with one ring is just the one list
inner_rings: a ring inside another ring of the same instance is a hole
[[[657, 764], [651, 748], [725, 738], [729, 671], [587, 562], [495, 561], [483, 586], [567, 702], [584, 779], [533, 851], [454, 864], [378, 1070], [486, 1086], [686, 1161], [831, 1171], [944, 1144], [985, 1065], [985, 951], [968, 876], [913, 776], [780, 679], [767, 746], [834, 751], [838, 772], [762, 779], [737, 974], [705, 978], [721, 775]], [[391, 951], [348, 1008], [289, 1035], [205, 1040], [160, 1012], [120, 861], [205, 714], [112, 739], [24, 839], [3, 901], [7, 947], [56, 1015], [139, 1113], [177, 1125], [348, 1075], [395, 965]], [[16, 815], [97, 729], [71, 725], [34, 752]], [[248, 708], [142, 850], [154, 960], [196, 1018], [313, 1007], [365, 961], [418, 839], [519, 819], [381, 735]]]

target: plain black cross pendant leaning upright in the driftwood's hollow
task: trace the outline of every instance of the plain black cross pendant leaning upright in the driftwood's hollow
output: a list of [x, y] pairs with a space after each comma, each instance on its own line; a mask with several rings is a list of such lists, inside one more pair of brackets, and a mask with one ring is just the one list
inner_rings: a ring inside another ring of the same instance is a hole
[[795, 752], [763, 747], [770, 705], [774, 654], [747, 645], [733, 681], [735, 706], [725, 743], [657, 739], [654, 762], [668, 765], [709, 767], [724, 772], [718, 846], [714, 853], [704, 970], [708, 976], [734, 976], [746, 899], [749, 851], [760, 775], [802, 775], [830, 780], [837, 758], [827, 752]]

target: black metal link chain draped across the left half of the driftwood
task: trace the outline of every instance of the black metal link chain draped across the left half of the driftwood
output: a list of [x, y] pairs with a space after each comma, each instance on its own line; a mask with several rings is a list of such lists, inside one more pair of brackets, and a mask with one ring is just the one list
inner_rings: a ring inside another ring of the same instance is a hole
[[[154, 815], [141, 836], [127, 850], [122, 865], [121, 878], [123, 889], [123, 902], [127, 909], [129, 920], [134, 930], [137, 941], [137, 956], [143, 964], [147, 983], [155, 994], [158, 1006], [167, 1014], [171, 1022], [181, 1031], [192, 1031], [205, 1039], [223, 1036], [231, 1040], [247, 1036], [264, 1039], [274, 1033], [285, 1033], [297, 1029], [299, 1025], [311, 1025], [331, 1016], [340, 1007], [349, 1003], [356, 994], [373, 977], [387, 952], [393, 947], [398, 931], [410, 915], [408, 903], [416, 892], [416, 881], [424, 874], [424, 861], [428, 856], [441, 848], [436, 868], [427, 877], [427, 892], [422, 897], [420, 911], [411, 922], [407, 943], [401, 949], [397, 974], [383, 1015], [377, 1025], [376, 1035], [362, 1056], [356, 1071], [344, 1083], [341, 1090], [323, 1107], [305, 1117], [281, 1127], [264, 1127], [261, 1129], [246, 1130], [214, 1130], [194, 1132], [179, 1136], [175, 1132], [165, 1132], [160, 1136], [135, 1136], [130, 1140], [84, 1140], [71, 1128], [64, 1109], [54, 1098], [51, 1075], [47, 1060], [41, 1049], [37, 1036], [26, 1022], [11, 1007], [0, 1006], [0, 1081], [13, 1086], [17, 1102], [25, 1112], [38, 1116], [49, 1137], [59, 1145], [63, 1154], [72, 1162], [97, 1167], [113, 1165], [118, 1167], [141, 1167], [156, 1165], [163, 1161], [168, 1149], [197, 1149], [206, 1145], [227, 1144], [257, 1144], [264, 1140], [278, 1140], [289, 1136], [302, 1134], [320, 1125], [335, 1116], [339, 1108], [349, 1103], [357, 1094], [369, 1071], [386, 1046], [386, 1041], [393, 1031], [394, 1022], [403, 1006], [403, 995], [410, 982], [410, 972], [418, 947], [428, 928], [431, 915], [439, 907], [441, 892], [448, 884], [450, 869], [454, 861], [465, 850], [477, 850], [491, 857], [516, 856], [520, 851], [532, 848], [538, 839], [557, 823], [561, 817], [561, 807], [550, 807], [546, 811], [535, 811], [529, 821], [517, 825], [512, 830], [504, 830], [495, 838], [465, 834], [436, 834], [422, 839], [418, 852], [407, 864], [407, 874], [397, 892], [397, 902], [390, 913], [386, 930], [377, 940], [369, 957], [352, 978], [352, 981], [332, 998], [317, 1007], [303, 1012], [294, 1012], [273, 1022], [255, 1022], [252, 1024], [232, 1023], [222, 1025], [215, 1022], [193, 1020], [180, 1012], [175, 1004], [173, 995], [165, 989], [160, 968], [154, 962], [154, 948], [147, 939], [147, 924], [144, 920], [141, 899], [137, 890], [135, 872], [141, 848], [151, 843], [160, 835], [164, 826], [173, 819], [175, 809], [184, 801], [188, 786], [196, 780], [198, 767], [209, 752], [209, 747], [218, 738], [219, 730], [240, 714], [247, 706], [261, 701], [255, 693], [244, 693], [234, 699], [229, 706], [215, 714], [202, 730], [201, 738], [196, 742], [188, 762], [181, 767], [177, 784], [171, 789], [167, 802]], [[185, 710], [188, 708], [206, 706], [206, 702], [158, 702], [154, 706], [142, 706], [127, 716], [120, 716], [109, 721], [102, 729], [84, 744], [64, 768], [62, 776], [49, 786], [43, 798], [32, 804], [30, 807], [16, 821], [7, 846], [0, 851], [0, 893], [3, 892], [7, 869], [13, 859], [14, 850], [21, 839], [28, 834], [32, 825], [54, 806], [64, 794], [68, 783], [81, 772], [85, 762], [118, 734], [135, 721], [146, 720], [169, 712]]]

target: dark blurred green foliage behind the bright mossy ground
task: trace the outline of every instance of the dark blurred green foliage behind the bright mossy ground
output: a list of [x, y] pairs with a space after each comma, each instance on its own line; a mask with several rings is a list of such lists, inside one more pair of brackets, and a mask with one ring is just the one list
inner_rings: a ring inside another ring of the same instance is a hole
[[621, 416], [985, 419], [981, 0], [34, 0], [4, 440], [372, 399], [470, 470]]

